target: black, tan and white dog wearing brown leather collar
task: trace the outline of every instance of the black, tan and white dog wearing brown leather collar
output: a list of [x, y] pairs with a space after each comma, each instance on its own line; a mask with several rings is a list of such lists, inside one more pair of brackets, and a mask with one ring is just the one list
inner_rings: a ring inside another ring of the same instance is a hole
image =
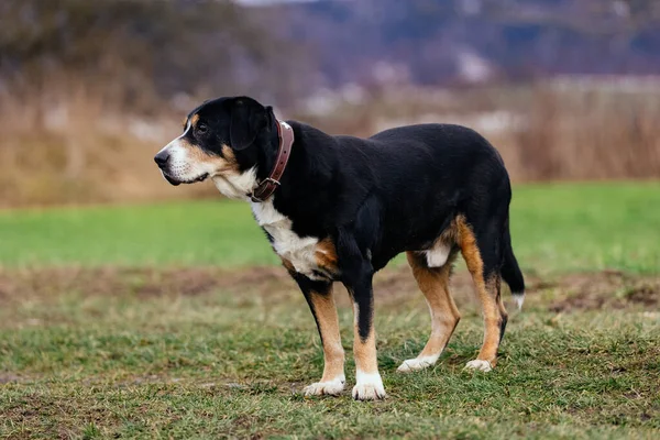
[[210, 179], [222, 195], [251, 204], [284, 267], [305, 296], [321, 337], [324, 367], [305, 395], [339, 395], [344, 351], [332, 286], [354, 311], [353, 398], [386, 396], [376, 361], [372, 278], [394, 256], [407, 260], [431, 314], [431, 334], [399, 372], [436, 363], [460, 314], [449, 292], [462, 254], [483, 308], [485, 334], [466, 369], [491, 371], [504, 336], [504, 279], [518, 307], [525, 280], [509, 233], [512, 189], [495, 147], [475, 131], [418, 124], [369, 139], [329, 135], [249, 97], [207, 101], [155, 162], [172, 185]]

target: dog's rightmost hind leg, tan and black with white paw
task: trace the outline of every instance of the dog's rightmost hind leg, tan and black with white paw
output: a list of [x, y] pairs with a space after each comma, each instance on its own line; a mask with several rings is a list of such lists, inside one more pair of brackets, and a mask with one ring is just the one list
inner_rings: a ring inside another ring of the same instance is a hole
[[459, 245], [474, 280], [484, 317], [484, 342], [476, 359], [468, 362], [465, 367], [490, 372], [497, 362], [497, 349], [507, 321], [501, 295], [501, 229], [493, 220], [475, 232], [464, 217], [459, 217], [457, 224]]

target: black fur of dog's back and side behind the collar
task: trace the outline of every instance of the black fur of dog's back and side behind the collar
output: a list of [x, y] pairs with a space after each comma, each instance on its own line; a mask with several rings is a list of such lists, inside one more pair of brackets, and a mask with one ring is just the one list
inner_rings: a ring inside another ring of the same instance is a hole
[[[359, 240], [376, 270], [404, 251], [429, 246], [460, 212], [507, 213], [504, 163], [473, 130], [408, 125], [363, 140], [289, 124], [296, 148], [275, 207], [293, 219], [299, 235], [322, 239], [356, 222], [356, 229], [366, 229]], [[480, 204], [485, 195], [497, 202]]]

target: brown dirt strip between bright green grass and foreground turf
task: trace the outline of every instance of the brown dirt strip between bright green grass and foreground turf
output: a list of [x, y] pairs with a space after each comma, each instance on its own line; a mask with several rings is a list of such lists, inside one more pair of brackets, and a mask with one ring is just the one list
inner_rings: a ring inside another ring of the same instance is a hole
[[[548, 309], [570, 310], [625, 308], [654, 309], [660, 304], [660, 277], [622, 272], [571, 274], [551, 279], [527, 277], [528, 294], [554, 293]], [[374, 289], [380, 301], [397, 304], [417, 292], [407, 266], [377, 274]], [[452, 278], [457, 301], [473, 300], [473, 284], [465, 272]], [[0, 270], [0, 302], [30, 298], [56, 298], [64, 293], [82, 296], [207, 295], [217, 292], [251, 293], [268, 297], [297, 294], [297, 287], [282, 267], [223, 270], [199, 268], [81, 268], [53, 267]]]

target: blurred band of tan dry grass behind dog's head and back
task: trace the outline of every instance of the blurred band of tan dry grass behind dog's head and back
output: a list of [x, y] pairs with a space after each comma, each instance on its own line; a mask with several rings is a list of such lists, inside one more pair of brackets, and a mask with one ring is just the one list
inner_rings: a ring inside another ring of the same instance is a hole
[[[43, 91], [43, 92], [42, 92]], [[54, 78], [0, 100], [0, 206], [117, 202], [213, 194], [173, 190], [153, 155], [178, 134], [186, 110], [152, 114]], [[400, 88], [318, 116], [284, 109], [329, 133], [369, 136], [392, 125], [455, 122], [484, 134], [515, 180], [644, 179], [660, 175], [659, 99], [616, 89], [551, 85], [455, 90]]]

